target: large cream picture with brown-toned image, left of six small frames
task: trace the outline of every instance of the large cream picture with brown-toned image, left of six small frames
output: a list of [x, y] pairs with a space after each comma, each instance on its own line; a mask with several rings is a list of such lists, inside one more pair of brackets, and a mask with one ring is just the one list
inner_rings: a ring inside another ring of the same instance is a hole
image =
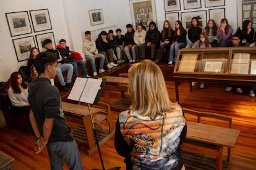
[[142, 23], [146, 30], [148, 30], [150, 22], [156, 23], [155, 0], [129, 0], [129, 2], [134, 28], [138, 23]]

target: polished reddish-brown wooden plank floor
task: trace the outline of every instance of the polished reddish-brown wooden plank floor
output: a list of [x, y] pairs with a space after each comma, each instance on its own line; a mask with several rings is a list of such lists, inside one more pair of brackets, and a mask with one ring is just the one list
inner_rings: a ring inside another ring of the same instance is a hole
[[[166, 81], [169, 98], [176, 102], [175, 87], [173, 81]], [[220, 84], [205, 84], [205, 89], [200, 89], [199, 84], [189, 91], [189, 84], [179, 86], [180, 103], [184, 108], [192, 108], [200, 111], [211, 111], [233, 117], [233, 128], [241, 130], [236, 147], [233, 148], [233, 160], [229, 169], [256, 169], [256, 99], [249, 97], [247, 91], [237, 94], [235, 91], [224, 92], [226, 86]], [[111, 92], [111, 100], [117, 100], [119, 94]], [[104, 98], [100, 98], [104, 102]], [[118, 116], [114, 112], [114, 121]], [[193, 119], [193, 118], [189, 118]], [[70, 127], [75, 128], [75, 121], [68, 121]], [[215, 123], [213, 123], [215, 124]], [[216, 123], [217, 124], [217, 123]], [[106, 124], [103, 124], [103, 128]], [[0, 150], [14, 157], [15, 169], [50, 169], [49, 158], [46, 149], [38, 155], [33, 150], [35, 137], [28, 136], [12, 127], [0, 129]], [[114, 149], [114, 137], [101, 145], [101, 154], [105, 169], [120, 166], [126, 169], [123, 158]], [[88, 156], [87, 148], [79, 145], [82, 163], [85, 169], [102, 169], [98, 152]], [[226, 150], [224, 150], [224, 154]], [[68, 169], [64, 164], [64, 169]]]

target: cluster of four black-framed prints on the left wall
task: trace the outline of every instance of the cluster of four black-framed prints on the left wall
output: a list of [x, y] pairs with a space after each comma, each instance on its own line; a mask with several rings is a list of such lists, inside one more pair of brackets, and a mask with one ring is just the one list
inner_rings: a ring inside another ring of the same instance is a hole
[[[48, 9], [30, 10], [29, 13], [34, 33], [52, 29]], [[30, 24], [30, 18], [28, 16], [28, 11], [6, 13], [6, 19], [11, 37], [31, 34], [32, 26]], [[40, 51], [43, 51], [43, 41], [45, 41], [45, 39], [49, 38], [55, 42], [53, 32], [36, 34], [35, 38], [37, 47]], [[32, 47], [36, 47], [35, 38], [33, 35], [31, 35], [12, 39], [18, 62], [28, 59], [30, 49], [32, 49]]]

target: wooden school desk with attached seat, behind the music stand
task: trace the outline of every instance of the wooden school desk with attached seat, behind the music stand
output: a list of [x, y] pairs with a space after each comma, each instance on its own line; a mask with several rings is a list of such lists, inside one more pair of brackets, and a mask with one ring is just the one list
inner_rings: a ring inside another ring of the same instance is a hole
[[[93, 107], [90, 107], [93, 122], [95, 124], [100, 124], [102, 121], [106, 120], [109, 125], [108, 131], [105, 131], [105, 129], [96, 130], [98, 142], [101, 145], [114, 135], [114, 124], [108, 104], [98, 102], [96, 107], [94, 105]], [[64, 113], [66, 113], [65, 115], [67, 116], [67, 119], [75, 118], [80, 120], [80, 126], [74, 129], [73, 134], [77, 142], [88, 145], [89, 150], [87, 153], [90, 155], [97, 149], [97, 147], [93, 137], [93, 126], [88, 106], [62, 102], [62, 109]]]

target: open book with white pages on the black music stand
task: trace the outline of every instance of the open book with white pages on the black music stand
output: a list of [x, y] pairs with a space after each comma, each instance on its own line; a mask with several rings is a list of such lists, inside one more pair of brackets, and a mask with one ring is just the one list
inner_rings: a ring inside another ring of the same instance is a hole
[[[79, 102], [95, 104], [95, 99], [101, 90], [102, 79], [95, 78], [76, 78], [67, 99]], [[98, 101], [96, 101], [98, 102]]]

